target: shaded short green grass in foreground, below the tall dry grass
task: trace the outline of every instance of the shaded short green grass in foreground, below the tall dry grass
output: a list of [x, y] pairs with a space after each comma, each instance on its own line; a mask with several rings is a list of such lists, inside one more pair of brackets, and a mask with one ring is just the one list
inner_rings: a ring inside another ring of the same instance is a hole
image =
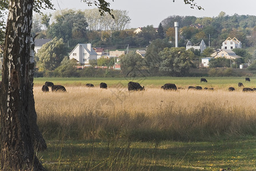
[[255, 170], [255, 137], [207, 142], [47, 141], [49, 170]]

